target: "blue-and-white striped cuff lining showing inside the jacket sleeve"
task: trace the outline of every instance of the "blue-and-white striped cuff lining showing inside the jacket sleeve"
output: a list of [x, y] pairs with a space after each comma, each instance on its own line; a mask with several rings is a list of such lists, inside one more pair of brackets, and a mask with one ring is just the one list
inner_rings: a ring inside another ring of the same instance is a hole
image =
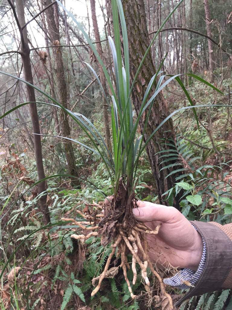
[[183, 281], [189, 281], [192, 286], [194, 286], [196, 284], [196, 282], [200, 278], [201, 273], [204, 270], [205, 263], [206, 263], [206, 254], [207, 253], [206, 253], [206, 246], [205, 246], [205, 242], [204, 242], [203, 238], [202, 238], [202, 241], [203, 241], [204, 247], [203, 247], [203, 253], [202, 253], [200, 264], [198, 266], [197, 271], [194, 271], [194, 270], [191, 270], [191, 269], [188, 269], [188, 268], [184, 268], [184, 269], [180, 270], [173, 277], [165, 278], [163, 280], [165, 284], [177, 287], [177, 288], [179, 288], [181, 290], [189, 288], [189, 286], [183, 284]]

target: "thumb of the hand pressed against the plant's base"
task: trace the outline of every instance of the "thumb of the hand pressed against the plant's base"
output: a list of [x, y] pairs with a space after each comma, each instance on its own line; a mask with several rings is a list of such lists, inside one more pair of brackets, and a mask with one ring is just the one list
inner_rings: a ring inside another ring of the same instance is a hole
[[132, 209], [135, 219], [141, 222], [161, 221], [173, 223], [181, 219], [182, 214], [174, 207], [146, 203], [146, 206]]

